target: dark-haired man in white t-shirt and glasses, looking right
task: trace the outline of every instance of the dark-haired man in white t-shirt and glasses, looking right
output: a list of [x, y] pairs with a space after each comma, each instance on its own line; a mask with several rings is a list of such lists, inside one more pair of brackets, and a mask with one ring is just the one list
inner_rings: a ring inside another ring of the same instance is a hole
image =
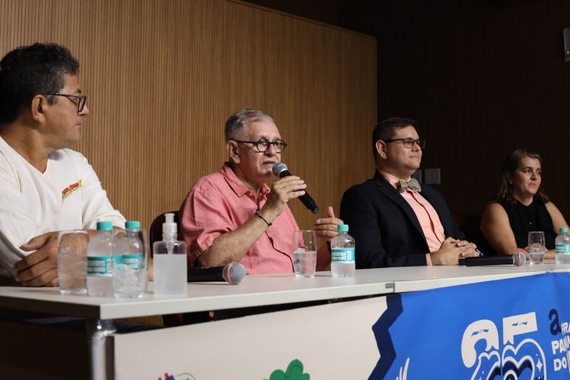
[[89, 114], [79, 63], [53, 43], [0, 61], [0, 276], [57, 286], [58, 231], [124, 227], [87, 159], [67, 149]]

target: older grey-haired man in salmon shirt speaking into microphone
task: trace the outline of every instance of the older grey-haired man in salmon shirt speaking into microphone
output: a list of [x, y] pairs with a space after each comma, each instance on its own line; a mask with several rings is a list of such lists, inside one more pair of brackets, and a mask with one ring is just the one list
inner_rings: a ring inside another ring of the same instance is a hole
[[[291, 240], [299, 226], [287, 202], [304, 195], [306, 184], [291, 175], [266, 185], [286, 143], [269, 115], [249, 109], [229, 117], [225, 136], [227, 163], [200, 178], [180, 207], [189, 262], [197, 267], [241, 262], [248, 274], [292, 273]], [[327, 214], [314, 230], [330, 242], [342, 220], [332, 207]], [[326, 267], [331, 260], [326, 245], [317, 257], [317, 269]]]

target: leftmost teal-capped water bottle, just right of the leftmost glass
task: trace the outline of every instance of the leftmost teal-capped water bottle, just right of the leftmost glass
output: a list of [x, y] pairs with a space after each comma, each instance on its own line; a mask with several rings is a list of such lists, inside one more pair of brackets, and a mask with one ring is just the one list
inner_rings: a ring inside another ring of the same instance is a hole
[[111, 276], [115, 264], [114, 244], [113, 223], [108, 220], [97, 222], [97, 235], [87, 245], [87, 292], [90, 296], [114, 295]]

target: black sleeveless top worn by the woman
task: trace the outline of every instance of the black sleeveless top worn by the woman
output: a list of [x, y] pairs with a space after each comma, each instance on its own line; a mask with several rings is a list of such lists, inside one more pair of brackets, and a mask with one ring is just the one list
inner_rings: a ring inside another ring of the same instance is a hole
[[509, 223], [512, 232], [514, 233], [514, 240], [517, 241], [517, 247], [527, 247], [529, 245], [529, 231], [544, 231], [544, 240], [546, 243], [546, 250], [554, 249], [554, 225], [552, 218], [544, 202], [538, 198], [534, 198], [532, 203], [528, 206], [523, 205], [518, 200], [514, 205], [509, 205], [506, 200], [499, 202], [504, 211], [509, 216]]

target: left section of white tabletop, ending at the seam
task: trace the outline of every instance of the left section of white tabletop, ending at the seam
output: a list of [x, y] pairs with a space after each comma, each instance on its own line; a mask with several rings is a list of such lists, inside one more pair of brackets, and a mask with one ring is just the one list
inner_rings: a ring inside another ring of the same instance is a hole
[[62, 295], [57, 288], [0, 287], [0, 307], [115, 319], [388, 294], [393, 292], [393, 282], [383, 281], [377, 272], [366, 271], [346, 279], [319, 272], [313, 278], [302, 279], [293, 274], [248, 276], [236, 286], [222, 282], [193, 283], [187, 285], [187, 293], [182, 296], [156, 296], [152, 289], [150, 282], [149, 292], [142, 298], [115, 299]]

